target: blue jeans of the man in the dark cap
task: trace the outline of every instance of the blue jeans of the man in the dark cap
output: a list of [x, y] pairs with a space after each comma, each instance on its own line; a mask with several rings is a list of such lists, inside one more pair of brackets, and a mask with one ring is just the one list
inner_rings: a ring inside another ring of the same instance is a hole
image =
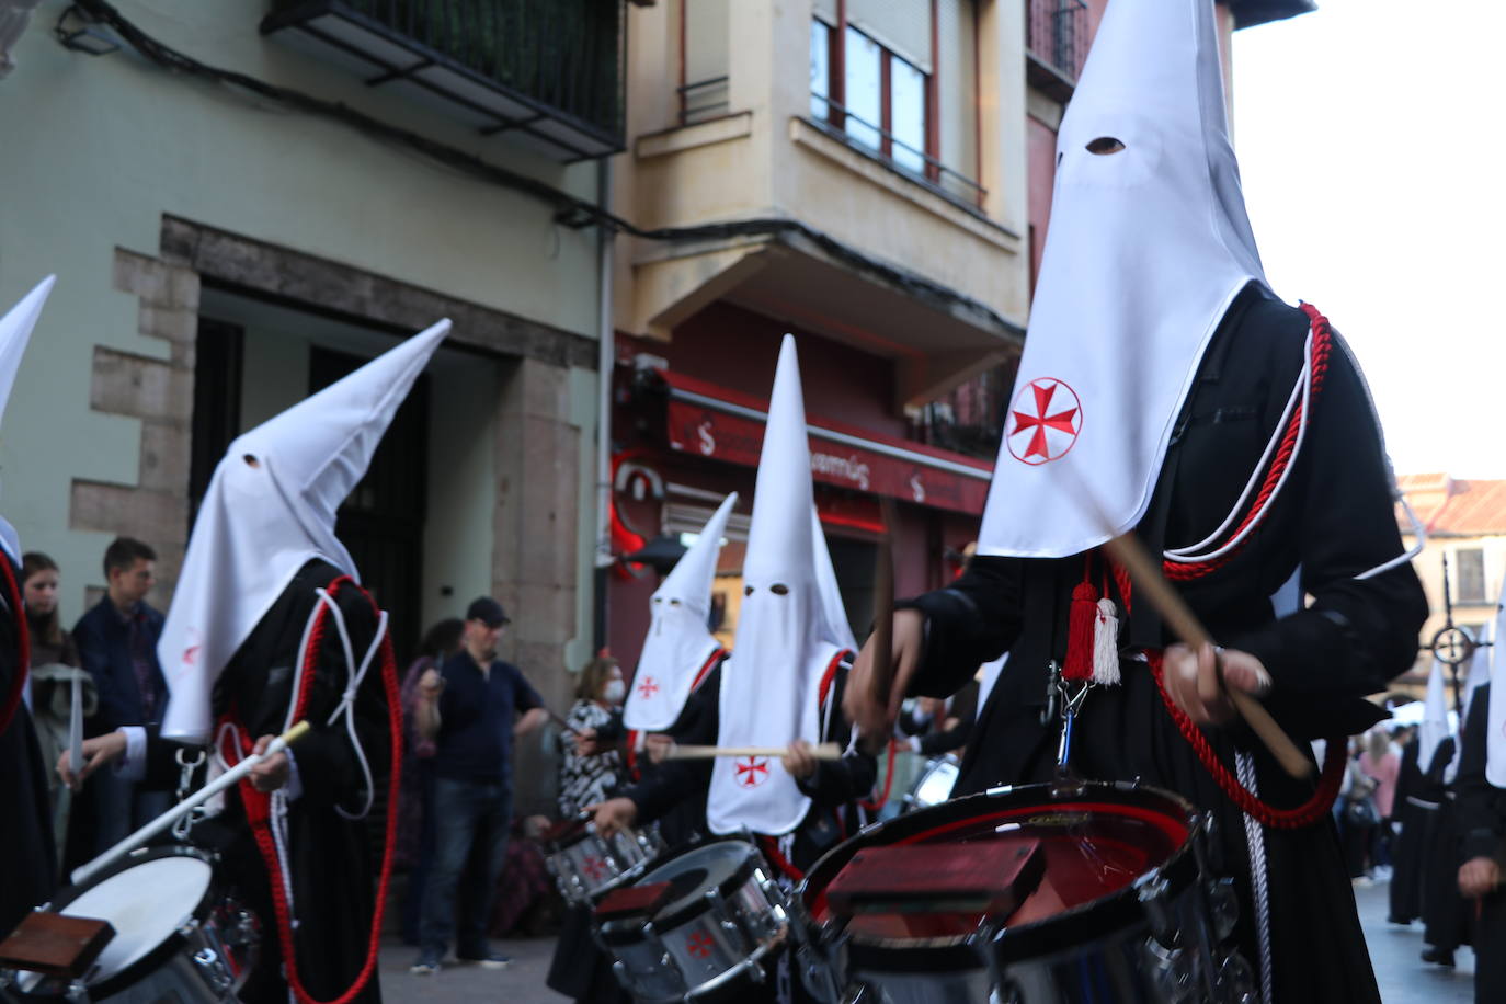
[[423, 918], [419, 939], [425, 956], [444, 957], [456, 933], [455, 893], [471, 850], [477, 852], [483, 875], [468, 899], [461, 918], [456, 954], [480, 959], [486, 954], [486, 920], [508, 855], [508, 829], [512, 825], [512, 787], [508, 783], [434, 780], [434, 861], [423, 887]]

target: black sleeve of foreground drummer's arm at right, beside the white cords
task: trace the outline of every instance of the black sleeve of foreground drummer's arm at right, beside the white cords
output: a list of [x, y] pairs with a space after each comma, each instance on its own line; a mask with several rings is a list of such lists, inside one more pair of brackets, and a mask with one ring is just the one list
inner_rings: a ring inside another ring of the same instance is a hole
[[1373, 411], [1337, 337], [1297, 464], [1294, 531], [1312, 604], [1226, 641], [1270, 670], [1277, 718], [1386, 689], [1413, 664], [1428, 617], [1411, 563], [1355, 578], [1405, 548]]

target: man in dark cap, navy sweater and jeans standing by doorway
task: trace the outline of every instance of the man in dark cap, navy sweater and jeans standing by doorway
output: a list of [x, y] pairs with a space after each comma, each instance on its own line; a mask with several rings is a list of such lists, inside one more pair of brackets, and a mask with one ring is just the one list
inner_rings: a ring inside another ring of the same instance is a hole
[[456, 956], [488, 969], [509, 962], [486, 947], [486, 917], [512, 825], [512, 741], [542, 726], [548, 712], [518, 667], [497, 658], [506, 626], [501, 604], [473, 601], [461, 650], [419, 680], [419, 733], [435, 745], [434, 872], [423, 890], [422, 948], [413, 963], [419, 975], [438, 972], [456, 935], [455, 890], [477, 843], [486, 870], [459, 923]]

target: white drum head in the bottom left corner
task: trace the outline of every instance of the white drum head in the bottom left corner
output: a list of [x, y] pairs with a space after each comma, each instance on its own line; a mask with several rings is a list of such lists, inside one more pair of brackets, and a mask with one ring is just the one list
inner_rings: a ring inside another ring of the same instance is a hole
[[107, 920], [114, 927], [90, 986], [136, 965], [193, 920], [212, 878], [203, 856], [175, 853], [130, 864], [72, 893], [57, 912]]

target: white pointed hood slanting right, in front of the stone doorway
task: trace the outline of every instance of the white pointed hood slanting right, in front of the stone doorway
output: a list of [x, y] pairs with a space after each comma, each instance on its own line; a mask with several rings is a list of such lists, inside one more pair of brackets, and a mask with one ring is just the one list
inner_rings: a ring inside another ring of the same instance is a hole
[[157, 644], [170, 698], [163, 735], [208, 742], [214, 683], [310, 558], [360, 581], [334, 515], [366, 473], [450, 322], [242, 434], [209, 480]]

